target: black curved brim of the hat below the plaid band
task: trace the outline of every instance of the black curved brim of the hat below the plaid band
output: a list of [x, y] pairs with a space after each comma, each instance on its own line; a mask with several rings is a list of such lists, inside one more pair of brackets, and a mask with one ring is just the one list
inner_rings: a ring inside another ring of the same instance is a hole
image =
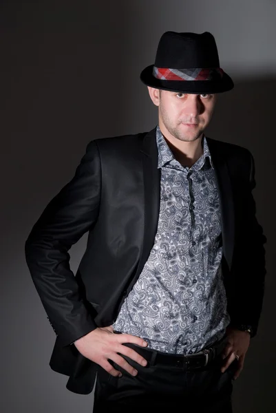
[[154, 77], [152, 70], [153, 65], [149, 65], [142, 70], [140, 74], [142, 83], [156, 89], [169, 90], [170, 92], [215, 94], [228, 92], [234, 87], [231, 77], [225, 72], [219, 81], [164, 81]]

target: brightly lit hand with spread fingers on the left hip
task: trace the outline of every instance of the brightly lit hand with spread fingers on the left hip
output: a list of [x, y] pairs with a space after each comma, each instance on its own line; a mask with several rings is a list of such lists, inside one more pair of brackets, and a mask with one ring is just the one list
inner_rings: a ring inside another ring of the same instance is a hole
[[130, 366], [118, 353], [124, 354], [141, 366], [146, 366], [147, 360], [135, 350], [123, 346], [123, 343], [134, 343], [142, 347], [147, 346], [147, 341], [144, 341], [140, 337], [129, 334], [115, 334], [112, 326], [98, 327], [76, 340], [74, 345], [84, 357], [98, 363], [103, 369], [109, 372], [109, 374], [112, 374], [112, 376], [121, 377], [122, 373], [118, 372], [107, 359], [114, 361], [118, 366], [129, 372], [129, 374], [136, 376], [137, 370]]

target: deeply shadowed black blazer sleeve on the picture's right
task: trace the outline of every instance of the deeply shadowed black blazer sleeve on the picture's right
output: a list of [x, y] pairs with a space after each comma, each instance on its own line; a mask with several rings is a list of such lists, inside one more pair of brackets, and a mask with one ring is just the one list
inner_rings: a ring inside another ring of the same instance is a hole
[[257, 334], [259, 318], [264, 299], [266, 260], [264, 244], [267, 239], [256, 218], [256, 204], [253, 197], [255, 162], [250, 151], [249, 184], [242, 194], [242, 222], [240, 237], [235, 245], [233, 262], [233, 295], [231, 299], [232, 323], [252, 326], [252, 335]]

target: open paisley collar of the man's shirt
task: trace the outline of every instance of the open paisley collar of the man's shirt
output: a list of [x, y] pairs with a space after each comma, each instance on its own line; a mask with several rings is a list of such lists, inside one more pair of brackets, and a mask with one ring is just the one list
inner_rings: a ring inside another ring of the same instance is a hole
[[[211, 153], [209, 151], [206, 136], [204, 134], [202, 136], [202, 142], [203, 156], [200, 158], [200, 164], [198, 165], [198, 169], [201, 169], [203, 167], [203, 165], [206, 162], [206, 158], [209, 158], [211, 167], [214, 169], [213, 162], [211, 159]], [[176, 160], [176, 158], [173, 156], [171, 149], [169, 148], [169, 145], [164, 139], [164, 136], [160, 130], [159, 125], [157, 125], [156, 127], [156, 143], [158, 147], [158, 168], [164, 167], [164, 165], [167, 164], [167, 162], [170, 162], [171, 160]]]

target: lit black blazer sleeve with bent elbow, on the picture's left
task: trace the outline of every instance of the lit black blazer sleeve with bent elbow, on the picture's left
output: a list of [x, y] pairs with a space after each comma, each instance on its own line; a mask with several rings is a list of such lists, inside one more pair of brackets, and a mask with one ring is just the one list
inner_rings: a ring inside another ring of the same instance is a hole
[[68, 251], [96, 224], [100, 181], [98, 146], [91, 141], [74, 177], [47, 204], [25, 242], [34, 286], [62, 346], [97, 327], [70, 269]]

